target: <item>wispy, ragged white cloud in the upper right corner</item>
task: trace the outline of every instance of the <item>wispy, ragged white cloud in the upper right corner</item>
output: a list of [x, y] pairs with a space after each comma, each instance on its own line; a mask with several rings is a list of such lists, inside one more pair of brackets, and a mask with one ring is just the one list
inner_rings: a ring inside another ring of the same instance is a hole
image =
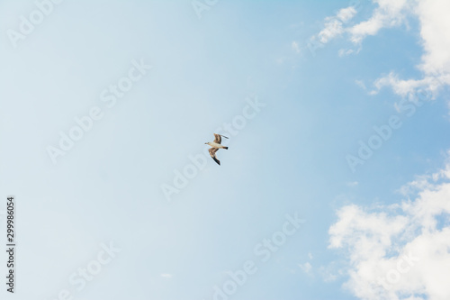
[[356, 44], [358, 50], [338, 51], [339, 56], [357, 54], [367, 36], [374, 36], [383, 28], [392, 28], [407, 24], [408, 18], [419, 20], [420, 44], [424, 53], [417, 63], [422, 71], [420, 78], [399, 77], [392, 71], [374, 82], [375, 89], [369, 94], [375, 95], [383, 87], [402, 97], [414, 97], [419, 93], [428, 93], [428, 99], [434, 99], [442, 86], [450, 85], [450, 1], [448, 0], [372, 0], [377, 7], [365, 21], [345, 26], [356, 14], [352, 6], [343, 8], [338, 14], [325, 19], [325, 28], [311, 38], [320, 41], [319, 47], [338, 36], [347, 34], [348, 40]]

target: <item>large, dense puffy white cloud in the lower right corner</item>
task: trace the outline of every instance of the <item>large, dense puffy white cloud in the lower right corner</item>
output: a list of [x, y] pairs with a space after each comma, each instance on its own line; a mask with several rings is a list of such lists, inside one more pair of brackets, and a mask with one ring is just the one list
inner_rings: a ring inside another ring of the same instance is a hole
[[365, 300], [450, 299], [450, 164], [402, 191], [413, 200], [338, 210], [329, 248], [346, 250], [345, 287]]

